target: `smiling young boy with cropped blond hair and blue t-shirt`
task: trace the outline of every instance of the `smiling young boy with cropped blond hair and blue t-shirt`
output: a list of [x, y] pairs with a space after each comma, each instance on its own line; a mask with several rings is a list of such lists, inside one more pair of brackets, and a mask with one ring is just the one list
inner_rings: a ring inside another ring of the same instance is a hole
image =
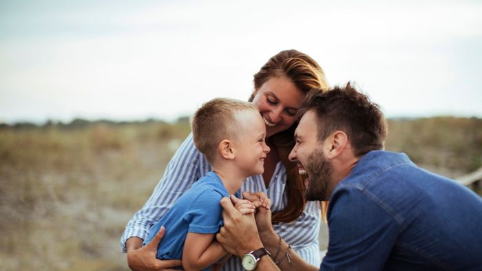
[[[165, 226], [157, 258], [182, 259], [185, 270], [209, 270], [227, 253], [214, 240], [222, 226], [220, 200], [238, 191], [247, 177], [264, 172], [269, 147], [264, 142], [266, 127], [260, 111], [250, 102], [213, 99], [196, 111], [191, 127], [194, 144], [206, 156], [212, 171], [194, 183], [152, 226], [144, 243]], [[238, 209], [242, 209], [240, 206]], [[266, 203], [262, 206], [269, 208]]]

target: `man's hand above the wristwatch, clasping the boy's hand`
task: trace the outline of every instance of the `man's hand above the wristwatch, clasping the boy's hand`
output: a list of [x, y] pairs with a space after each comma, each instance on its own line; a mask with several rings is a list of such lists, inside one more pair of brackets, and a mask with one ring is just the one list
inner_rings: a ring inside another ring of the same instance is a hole
[[216, 239], [231, 254], [238, 257], [262, 248], [258, 229], [253, 214], [242, 215], [236, 210], [228, 197], [221, 199], [222, 219], [224, 225], [216, 235]]

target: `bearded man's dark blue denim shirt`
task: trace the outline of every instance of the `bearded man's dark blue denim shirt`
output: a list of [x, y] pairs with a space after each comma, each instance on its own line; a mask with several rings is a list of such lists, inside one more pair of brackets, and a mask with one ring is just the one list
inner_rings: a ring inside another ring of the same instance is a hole
[[482, 270], [482, 199], [418, 168], [404, 153], [370, 151], [335, 187], [320, 270]]

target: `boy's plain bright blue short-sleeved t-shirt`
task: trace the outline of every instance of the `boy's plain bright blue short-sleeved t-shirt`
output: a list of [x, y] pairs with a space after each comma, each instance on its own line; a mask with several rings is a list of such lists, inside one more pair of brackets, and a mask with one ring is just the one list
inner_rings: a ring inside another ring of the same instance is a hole
[[195, 182], [149, 230], [144, 244], [164, 226], [166, 232], [158, 246], [158, 259], [182, 259], [187, 232], [214, 234], [222, 226], [222, 197], [229, 193], [216, 173], [210, 171]]

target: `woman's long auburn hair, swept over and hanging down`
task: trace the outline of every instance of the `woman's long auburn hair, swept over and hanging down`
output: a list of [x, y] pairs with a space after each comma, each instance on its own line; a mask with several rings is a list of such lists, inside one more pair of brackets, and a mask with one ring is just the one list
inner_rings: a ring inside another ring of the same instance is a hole
[[[328, 83], [322, 67], [313, 58], [297, 50], [285, 50], [269, 58], [269, 61], [254, 75], [254, 89], [257, 91], [273, 77], [286, 77], [293, 81], [305, 94], [311, 89], [320, 91], [328, 89]], [[249, 101], [253, 101], [254, 94]], [[289, 129], [271, 136], [271, 142], [280, 155], [280, 160], [286, 169], [287, 204], [283, 210], [273, 213], [273, 224], [291, 222], [300, 217], [306, 204], [305, 187], [302, 177], [298, 174], [297, 165], [288, 158], [295, 146], [294, 133], [297, 123]]]

